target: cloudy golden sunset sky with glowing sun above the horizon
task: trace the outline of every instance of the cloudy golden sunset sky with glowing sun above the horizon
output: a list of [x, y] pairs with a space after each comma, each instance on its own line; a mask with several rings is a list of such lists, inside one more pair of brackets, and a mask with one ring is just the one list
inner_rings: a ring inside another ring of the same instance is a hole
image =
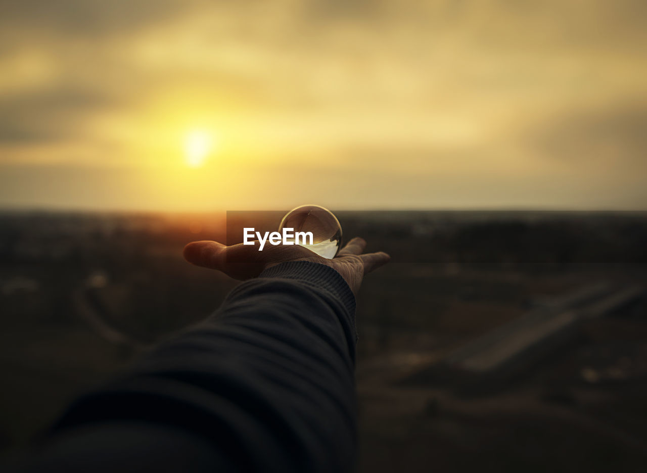
[[642, 0], [0, 0], [0, 207], [647, 210]]

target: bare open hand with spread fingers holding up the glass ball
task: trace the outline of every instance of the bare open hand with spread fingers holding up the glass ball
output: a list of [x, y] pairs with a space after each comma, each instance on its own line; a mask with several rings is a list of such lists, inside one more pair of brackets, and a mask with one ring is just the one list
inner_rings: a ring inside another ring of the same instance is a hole
[[184, 247], [184, 259], [205, 268], [217, 269], [237, 280], [256, 278], [263, 270], [287, 261], [313, 261], [329, 266], [341, 274], [357, 294], [364, 274], [388, 263], [391, 257], [384, 252], [362, 254], [366, 241], [353, 238], [333, 259], [323, 258], [299, 245], [265, 245], [258, 250], [254, 245], [232, 245], [227, 247], [217, 241], [194, 241]]

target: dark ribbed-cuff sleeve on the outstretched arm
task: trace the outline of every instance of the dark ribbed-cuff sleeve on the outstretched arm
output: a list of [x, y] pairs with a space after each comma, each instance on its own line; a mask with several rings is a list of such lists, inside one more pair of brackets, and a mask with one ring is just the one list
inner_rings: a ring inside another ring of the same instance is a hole
[[340, 472], [356, 450], [355, 298], [282, 263], [74, 402], [36, 470]]

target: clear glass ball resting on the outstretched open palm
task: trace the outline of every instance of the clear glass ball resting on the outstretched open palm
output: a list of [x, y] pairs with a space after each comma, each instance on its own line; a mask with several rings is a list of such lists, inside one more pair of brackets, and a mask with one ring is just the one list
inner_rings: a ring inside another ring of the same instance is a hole
[[[296, 232], [312, 232], [312, 245], [309, 237], [298, 238], [296, 243], [315, 252], [323, 258], [332, 259], [342, 245], [342, 226], [337, 217], [327, 208], [318, 205], [302, 205], [285, 214], [279, 232], [283, 228], [293, 228]], [[294, 241], [294, 239], [292, 239]]]

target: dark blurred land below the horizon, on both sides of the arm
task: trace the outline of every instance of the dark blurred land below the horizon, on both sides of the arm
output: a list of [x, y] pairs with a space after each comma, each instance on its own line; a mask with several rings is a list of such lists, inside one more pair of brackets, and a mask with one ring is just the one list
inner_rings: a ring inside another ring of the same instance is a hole
[[[360, 471], [646, 469], [646, 214], [338, 217], [345, 239], [392, 257], [358, 298]], [[219, 305], [236, 281], [182, 260], [195, 239], [224, 241], [224, 215], [0, 215], [3, 452]], [[505, 376], [442, 368], [479, 335], [599, 284], [637, 295]]]

